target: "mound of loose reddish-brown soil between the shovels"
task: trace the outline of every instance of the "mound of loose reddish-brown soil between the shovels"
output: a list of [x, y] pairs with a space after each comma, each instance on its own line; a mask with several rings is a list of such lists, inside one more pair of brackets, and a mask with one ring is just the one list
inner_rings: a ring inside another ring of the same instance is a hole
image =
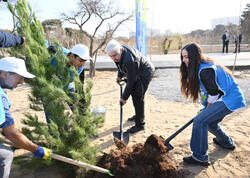
[[[135, 144], [132, 148], [116, 139], [117, 149], [104, 154], [97, 166], [110, 170], [119, 178], [167, 178], [183, 177], [183, 172], [167, 155], [168, 149], [164, 139], [151, 135], [143, 144]], [[87, 177], [104, 178], [108, 175], [90, 171]]]

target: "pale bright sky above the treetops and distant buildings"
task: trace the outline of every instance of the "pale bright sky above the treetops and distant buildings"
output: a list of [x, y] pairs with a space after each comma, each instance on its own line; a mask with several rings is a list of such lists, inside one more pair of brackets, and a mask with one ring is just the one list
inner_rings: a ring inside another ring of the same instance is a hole
[[[46, 20], [58, 18], [60, 12], [76, 8], [77, 0], [28, 0], [28, 2], [37, 17]], [[116, 2], [126, 10], [135, 8], [135, 0], [116, 0]], [[148, 27], [179, 33], [210, 29], [212, 19], [239, 16], [247, 3], [250, 3], [250, 0], [147, 0]], [[0, 28], [11, 29], [10, 13], [3, 9], [0, 13]], [[132, 31], [135, 31], [135, 22], [124, 25], [119, 33], [127, 35]]]

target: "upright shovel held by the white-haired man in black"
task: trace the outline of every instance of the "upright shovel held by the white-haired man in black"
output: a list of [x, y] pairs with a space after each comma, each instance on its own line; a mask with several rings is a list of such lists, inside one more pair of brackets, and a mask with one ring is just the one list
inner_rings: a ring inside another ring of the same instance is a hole
[[[120, 98], [122, 98], [122, 85], [124, 85], [124, 82], [120, 82]], [[121, 141], [123, 141], [126, 145], [129, 142], [129, 133], [128, 132], [123, 132], [122, 128], [122, 103], [120, 103], [120, 132], [113, 132], [113, 136]]]

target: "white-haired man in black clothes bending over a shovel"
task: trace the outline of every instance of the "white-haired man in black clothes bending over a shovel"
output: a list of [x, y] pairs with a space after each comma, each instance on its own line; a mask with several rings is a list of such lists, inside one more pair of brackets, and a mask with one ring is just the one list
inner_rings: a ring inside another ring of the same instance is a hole
[[[126, 104], [132, 96], [135, 108], [135, 126], [127, 130], [136, 133], [145, 129], [144, 96], [153, 77], [154, 66], [137, 49], [121, 45], [116, 40], [111, 40], [106, 47], [109, 57], [115, 62], [118, 69], [116, 82], [119, 84], [123, 77], [127, 78], [127, 85], [122, 94], [120, 103]], [[132, 120], [132, 119], [129, 119]]]

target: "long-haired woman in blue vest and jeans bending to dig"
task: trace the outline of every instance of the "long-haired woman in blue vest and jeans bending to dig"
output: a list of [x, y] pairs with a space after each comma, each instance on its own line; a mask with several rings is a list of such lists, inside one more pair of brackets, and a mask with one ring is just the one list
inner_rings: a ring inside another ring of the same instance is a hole
[[215, 136], [215, 144], [224, 149], [235, 149], [232, 138], [219, 123], [226, 115], [245, 107], [245, 99], [231, 71], [215, 60], [204, 57], [196, 43], [188, 44], [181, 50], [180, 75], [182, 94], [193, 101], [200, 94], [205, 107], [194, 118], [190, 143], [193, 154], [183, 160], [188, 164], [208, 166], [208, 131]]

